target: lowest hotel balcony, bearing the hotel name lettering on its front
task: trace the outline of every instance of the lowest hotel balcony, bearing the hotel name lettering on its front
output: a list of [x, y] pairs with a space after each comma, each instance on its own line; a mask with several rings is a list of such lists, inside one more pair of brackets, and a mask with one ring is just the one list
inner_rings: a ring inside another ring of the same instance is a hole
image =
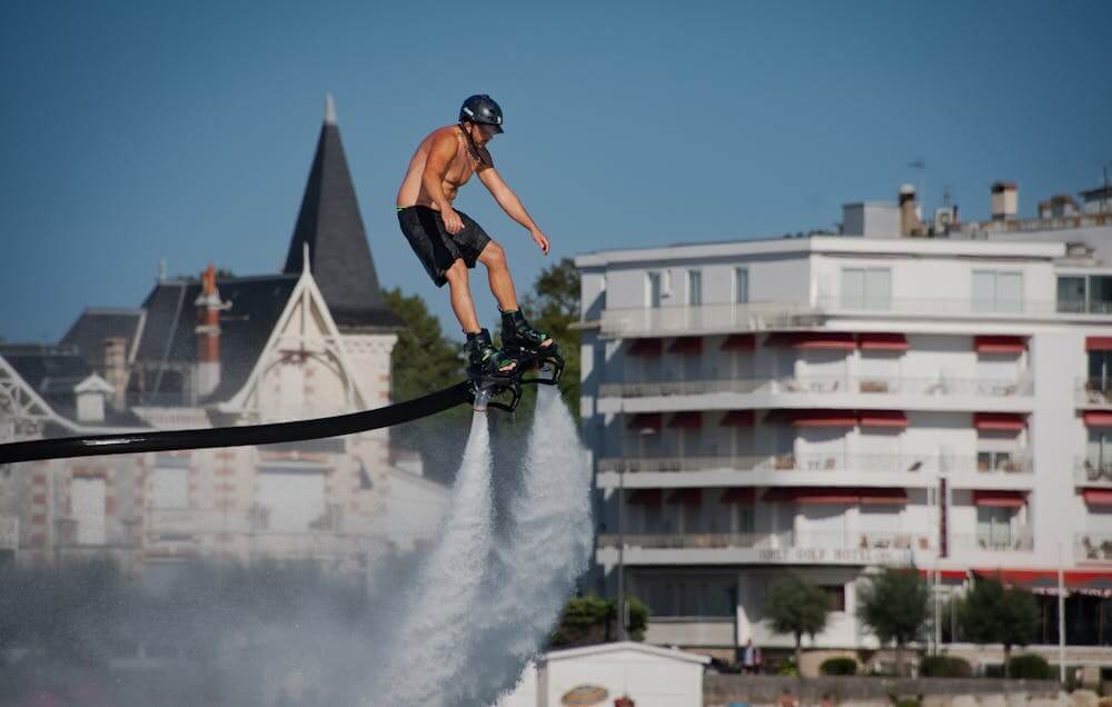
[[[598, 561], [617, 561], [618, 536], [599, 535]], [[905, 565], [933, 552], [930, 530], [905, 532], [668, 532], [626, 534], [623, 561], [656, 564]]]

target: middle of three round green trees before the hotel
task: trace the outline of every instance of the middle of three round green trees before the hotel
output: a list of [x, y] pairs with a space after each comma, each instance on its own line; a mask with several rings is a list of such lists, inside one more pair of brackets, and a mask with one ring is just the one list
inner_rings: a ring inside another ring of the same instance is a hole
[[929, 588], [913, 568], [886, 567], [857, 590], [857, 617], [881, 645], [896, 645], [896, 670], [904, 674], [904, 647], [919, 638], [926, 623]]

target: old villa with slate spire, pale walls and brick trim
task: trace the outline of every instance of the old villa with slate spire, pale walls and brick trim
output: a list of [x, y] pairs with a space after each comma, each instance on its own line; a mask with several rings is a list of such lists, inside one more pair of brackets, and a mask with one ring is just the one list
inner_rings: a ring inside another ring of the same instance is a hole
[[[312, 418], [387, 405], [401, 322], [383, 302], [331, 99], [281, 272], [160, 276], [50, 345], [0, 346], [0, 441]], [[219, 253], [216, 253], [217, 256]], [[360, 571], [427, 540], [447, 490], [387, 430], [265, 447], [9, 465], [0, 545], [108, 555], [159, 581], [197, 558]]]

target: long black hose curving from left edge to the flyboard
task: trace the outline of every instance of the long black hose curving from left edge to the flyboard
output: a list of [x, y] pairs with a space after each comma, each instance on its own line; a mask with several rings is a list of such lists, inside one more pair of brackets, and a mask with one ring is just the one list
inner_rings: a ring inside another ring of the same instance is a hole
[[381, 427], [394, 427], [418, 418], [428, 417], [470, 402], [471, 384], [468, 381], [444, 390], [388, 405], [375, 410], [350, 412], [335, 417], [320, 417], [292, 422], [245, 425], [241, 427], [214, 427], [210, 429], [165, 430], [157, 432], [126, 432], [122, 435], [93, 435], [91, 437], [62, 437], [0, 445], [0, 464], [60, 459], [67, 457], [98, 457], [102, 455], [142, 454], [171, 449], [206, 449], [211, 447], [242, 447], [274, 442], [301, 441], [322, 437], [339, 437], [365, 432]]

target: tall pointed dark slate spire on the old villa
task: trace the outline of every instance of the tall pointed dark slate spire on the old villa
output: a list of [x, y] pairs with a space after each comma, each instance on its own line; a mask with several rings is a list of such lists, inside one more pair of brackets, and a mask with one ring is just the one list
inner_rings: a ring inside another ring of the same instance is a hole
[[282, 272], [300, 275], [306, 249], [312, 277], [337, 326], [366, 329], [401, 323], [383, 302], [331, 94], [325, 99], [325, 123]]

